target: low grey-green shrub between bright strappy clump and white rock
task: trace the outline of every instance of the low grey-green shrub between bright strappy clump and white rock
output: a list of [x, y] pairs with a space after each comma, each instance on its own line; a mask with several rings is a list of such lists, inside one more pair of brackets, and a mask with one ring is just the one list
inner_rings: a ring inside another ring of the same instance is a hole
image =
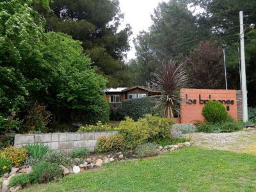
[[71, 157], [68, 157], [67, 154], [58, 150], [50, 150], [49, 152], [47, 152], [42, 158], [42, 161], [46, 161], [48, 163], [62, 164], [67, 168], [72, 167], [72, 164], [74, 164], [74, 161]]

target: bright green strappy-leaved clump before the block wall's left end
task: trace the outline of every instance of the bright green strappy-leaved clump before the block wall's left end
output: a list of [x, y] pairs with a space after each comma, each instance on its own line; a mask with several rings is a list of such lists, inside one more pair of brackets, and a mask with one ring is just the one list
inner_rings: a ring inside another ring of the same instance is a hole
[[33, 159], [42, 159], [44, 154], [49, 151], [49, 147], [42, 143], [33, 143], [24, 146], [26, 150], [28, 150], [28, 156], [32, 157]]

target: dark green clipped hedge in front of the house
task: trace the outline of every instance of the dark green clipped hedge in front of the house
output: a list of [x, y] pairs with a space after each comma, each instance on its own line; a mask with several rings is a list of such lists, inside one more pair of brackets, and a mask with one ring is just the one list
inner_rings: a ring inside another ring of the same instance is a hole
[[157, 113], [154, 103], [155, 99], [156, 96], [124, 100], [118, 108], [118, 114], [120, 114], [122, 119], [124, 119], [125, 116], [129, 116], [133, 120], [138, 120], [146, 114], [154, 115]]

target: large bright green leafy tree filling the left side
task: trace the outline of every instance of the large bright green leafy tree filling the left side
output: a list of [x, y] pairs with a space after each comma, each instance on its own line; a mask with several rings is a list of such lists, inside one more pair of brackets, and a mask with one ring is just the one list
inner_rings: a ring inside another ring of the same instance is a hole
[[107, 81], [81, 44], [63, 33], [45, 33], [31, 1], [0, 1], [0, 113], [26, 111], [39, 102], [55, 120], [65, 113], [66, 120], [108, 121]]

